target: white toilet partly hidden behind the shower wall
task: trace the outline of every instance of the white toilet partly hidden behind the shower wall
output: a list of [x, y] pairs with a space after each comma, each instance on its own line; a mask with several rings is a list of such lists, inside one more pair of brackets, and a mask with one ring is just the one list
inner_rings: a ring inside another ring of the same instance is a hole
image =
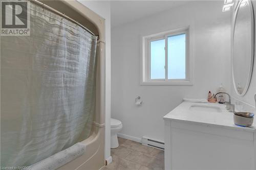
[[120, 120], [111, 118], [111, 148], [117, 148], [119, 146], [117, 133], [122, 129], [123, 125]]

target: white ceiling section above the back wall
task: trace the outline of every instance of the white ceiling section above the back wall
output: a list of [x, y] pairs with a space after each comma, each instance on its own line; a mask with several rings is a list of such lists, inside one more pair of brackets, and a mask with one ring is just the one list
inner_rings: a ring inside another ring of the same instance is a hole
[[111, 27], [186, 4], [187, 1], [111, 1]]

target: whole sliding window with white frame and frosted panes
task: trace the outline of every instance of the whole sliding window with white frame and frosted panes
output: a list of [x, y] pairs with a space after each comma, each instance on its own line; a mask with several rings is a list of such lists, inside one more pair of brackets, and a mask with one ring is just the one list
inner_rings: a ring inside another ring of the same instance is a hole
[[188, 29], [142, 37], [142, 85], [192, 85]]

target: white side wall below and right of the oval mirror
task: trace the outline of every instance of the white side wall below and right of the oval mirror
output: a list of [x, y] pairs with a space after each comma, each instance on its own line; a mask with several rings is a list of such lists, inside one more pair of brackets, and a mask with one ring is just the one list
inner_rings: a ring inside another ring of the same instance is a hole
[[[255, 19], [256, 1], [252, 1], [252, 5], [254, 7], [254, 19]], [[255, 23], [255, 21], [254, 21], [254, 23]], [[254, 32], [256, 33], [256, 25], [255, 24], [254, 24]], [[254, 35], [254, 37], [255, 37], [255, 35]], [[254, 49], [256, 49], [255, 47], [256, 47], [256, 43], [254, 44]], [[254, 55], [254, 66], [253, 66], [253, 72], [252, 72], [252, 79], [251, 79], [249, 89], [244, 96], [237, 95], [236, 91], [234, 90], [232, 78], [230, 79], [231, 80], [231, 83], [230, 83], [231, 95], [233, 96], [233, 100], [234, 101], [239, 100], [239, 101], [244, 102], [244, 110], [253, 111], [253, 112], [255, 112], [254, 94], [256, 93], [256, 68], [255, 68], [256, 63], [255, 62], [256, 62], [256, 59], [255, 59], [255, 55]]]

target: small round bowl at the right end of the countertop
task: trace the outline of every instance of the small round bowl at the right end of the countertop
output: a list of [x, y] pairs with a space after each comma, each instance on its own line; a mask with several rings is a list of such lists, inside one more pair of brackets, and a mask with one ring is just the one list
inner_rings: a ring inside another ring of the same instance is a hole
[[237, 126], [248, 127], [253, 124], [254, 114], [250, 112], [234, 112], [234, 124]]

